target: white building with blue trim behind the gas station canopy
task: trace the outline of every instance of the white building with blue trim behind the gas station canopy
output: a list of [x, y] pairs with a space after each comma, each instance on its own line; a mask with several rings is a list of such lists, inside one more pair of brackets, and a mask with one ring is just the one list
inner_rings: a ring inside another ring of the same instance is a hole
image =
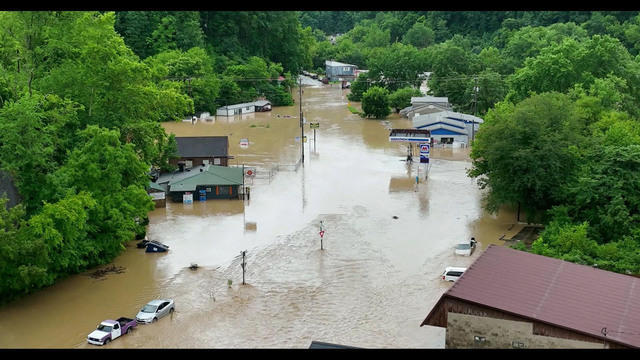
[[474, 132], [478, 132], [483, 122], [484, 120], [477, 116], [453, 111], [416, 115], [412, 120], [414, 128], [429, 130], [436, 144], [454, 144], [454, 146], [455, 144], [468, 146]]

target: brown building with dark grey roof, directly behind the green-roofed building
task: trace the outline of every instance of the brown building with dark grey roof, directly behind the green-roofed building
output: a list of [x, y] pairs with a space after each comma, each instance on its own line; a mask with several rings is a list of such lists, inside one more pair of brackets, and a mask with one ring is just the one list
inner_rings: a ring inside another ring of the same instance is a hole
[[190, 169], [200, 165], [227, 166], [229, 156], [229, 138], [227, 136], [176, 137], [178, 158], [169, 163], [181, 169]]

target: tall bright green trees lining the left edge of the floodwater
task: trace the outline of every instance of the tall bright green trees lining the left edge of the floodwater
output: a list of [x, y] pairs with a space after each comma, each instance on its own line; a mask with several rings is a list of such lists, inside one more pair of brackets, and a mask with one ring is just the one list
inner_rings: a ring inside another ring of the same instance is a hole
[[172, 150], [160, 121], [193, 101], [156, 83], [114, 23], [0, 13], [0, 168], [22, 197], [0, 206], [2, 301], [108, 262], [145, 231], [147, 174]]

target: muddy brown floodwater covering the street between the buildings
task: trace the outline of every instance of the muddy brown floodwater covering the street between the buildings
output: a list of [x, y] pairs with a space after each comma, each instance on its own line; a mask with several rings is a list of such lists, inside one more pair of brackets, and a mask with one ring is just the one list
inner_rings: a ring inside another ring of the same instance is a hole
[[[469, 149], [435, 148], [429, 168], [408, 165], [407, 145], [389, 142], [388, 129], [411, 121], [361, 119], [347, 93], [304, 88], [304, 166], [296, 166], [297, 91], [294, 106], [271, 112], [163, 124], [177, 136], [229, 136], [229, 164], [257, 169], [245, 180], [250, 200], [167, 201], [149, 214], [148, 235], [169, 252], [147, 254], [132, 241], [113, 262], [123, 273], [71, 276], [4, 306], [0, 347], [99, 348], [86, 336], [100, 321], [134, 317], [166, 297], [175, 300], [171, 317], [104, 348], [308, 348], [313, 340], [444, 348], [444, 329], [420, 327], [451, 286], [440, 274], [471, 264], [522, 225], [511, 210], [482, 210], [482, 192], [466, 176]], [[309, 122], [320, 123], [315, 142]], [[471, 236], [480, 251], [454, 255]]]

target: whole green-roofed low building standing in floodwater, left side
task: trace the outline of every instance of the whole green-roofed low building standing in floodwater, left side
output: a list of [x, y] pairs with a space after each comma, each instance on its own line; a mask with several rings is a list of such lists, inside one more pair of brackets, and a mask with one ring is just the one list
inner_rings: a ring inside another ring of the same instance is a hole
[[193, 201], [240, 198], [244, 173], [240, 167], [201, 165], [189, 171], [160, 176], [156, 182], [166, 188], [175, 202], [183, 202], [185, 195]]

